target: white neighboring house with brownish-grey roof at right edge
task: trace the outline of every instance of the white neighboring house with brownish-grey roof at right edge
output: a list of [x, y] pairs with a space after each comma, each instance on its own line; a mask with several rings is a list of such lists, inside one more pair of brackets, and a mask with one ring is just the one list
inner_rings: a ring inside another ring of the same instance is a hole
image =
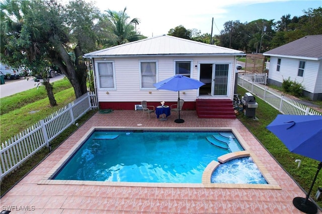
[[270, 56], [268, 83], [281, 86], [290, 78], [304, 87], [304, 95], [322, 100], [322, 35], [305, 36], [273, 50]]

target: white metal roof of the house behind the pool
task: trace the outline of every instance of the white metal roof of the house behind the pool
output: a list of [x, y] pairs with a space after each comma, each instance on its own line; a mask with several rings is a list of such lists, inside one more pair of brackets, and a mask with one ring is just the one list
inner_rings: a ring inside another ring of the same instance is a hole
[[144, 40], [126, 43], [111, 48], [85, 54], [85, 58], [111, 56], [150, 56], [150, 55], [219, 55], [241, 56], [243, 51], [237, 51], [216, 45], [209, 45], [192, 40], [163, 35]]

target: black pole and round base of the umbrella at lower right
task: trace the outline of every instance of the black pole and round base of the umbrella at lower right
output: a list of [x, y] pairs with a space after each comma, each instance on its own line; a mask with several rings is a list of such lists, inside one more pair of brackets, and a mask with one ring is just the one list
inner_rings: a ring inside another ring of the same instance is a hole
[[322, 168], [322, 162], [320, 162], [318, 164], [318, 166], [317, 166], [315, 176], [313, 178], [311, 187], [308, 190], [308, 193], [307, 193], [306, 197], [305, 198], [303, 198], [303, 197], [294, 197], [294, 199], [293, 199], [294, 206], [297, 209], [301, 210], [302, 212], [305, 212], [305, 213], [316, 213], [317, 212], [317, 206], [312, 201], [308, 200], [308, 198], [309, 198], [309, 196], [311, 194], [314, 182], [315, 182], [316, 177], [318, 175], [318, 172], [320, 171], [321, 168]]

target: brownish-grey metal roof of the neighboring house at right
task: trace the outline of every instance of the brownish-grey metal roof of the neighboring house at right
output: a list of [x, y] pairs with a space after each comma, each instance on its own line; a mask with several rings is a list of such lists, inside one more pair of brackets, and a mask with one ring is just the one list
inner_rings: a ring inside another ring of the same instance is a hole
[[307, 58], [311, 60], [322, 59], [322, 35], [305, 36], [301, 39], [274, 48], [263, 53], [265, 56], [289, 56]]

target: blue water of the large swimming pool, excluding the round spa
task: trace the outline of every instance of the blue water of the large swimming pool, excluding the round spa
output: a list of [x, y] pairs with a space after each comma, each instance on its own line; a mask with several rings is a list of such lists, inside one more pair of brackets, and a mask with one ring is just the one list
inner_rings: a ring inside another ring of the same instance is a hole
[[201, 183], [212, 160], [240, 150], [232, 132], [95, 131], [52, 179]]

